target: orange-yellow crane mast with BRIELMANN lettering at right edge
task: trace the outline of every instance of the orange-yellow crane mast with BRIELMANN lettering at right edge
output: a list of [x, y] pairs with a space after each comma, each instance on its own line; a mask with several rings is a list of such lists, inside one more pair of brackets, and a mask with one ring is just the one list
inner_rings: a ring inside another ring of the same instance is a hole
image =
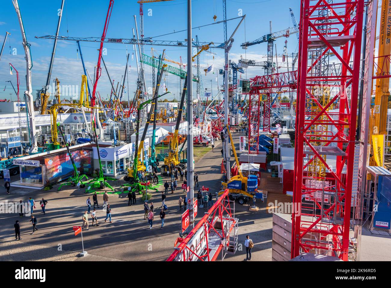
[[[391, 27], [388, 25], [391, 18], [391, 0], [382, 1], [382, 11], [380, 14], [380, 35], [379, 35], [379, 47], [378, 47], [378, 67], [387, 67], [388, 71], [383, 71], [389, 74], [389, 65], [384, 63], [387, 61], [386, 57], [391, 54]], [[387, 110], [388, 110], [388, 97], [389, 93], [389, 78], [376, 79], [375, 88], [375, 107], [372, 110], [371, 121], [372, 129], [369, 130], [369, 141], [372, 141], [371, 135], [386, 134], [387, 133]], [[371, 126], [370, 126], [371, 127]], [[373, 145], [371, 145], [373, 149]], [[373, 150], [372, 150], [373, 151]], [[375, 155], [375, 153], [371, 153]], [[376, 166], [373, 156], [369, 160], [369, 165]]]

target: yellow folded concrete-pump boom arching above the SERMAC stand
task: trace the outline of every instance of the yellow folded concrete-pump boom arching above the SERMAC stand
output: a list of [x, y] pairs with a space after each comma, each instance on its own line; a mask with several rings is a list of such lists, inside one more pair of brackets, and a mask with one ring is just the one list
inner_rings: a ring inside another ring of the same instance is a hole
[[[51, 122], [51, 128], [52, 128], [52, 142], [48, 144], [48, 148], [50, 150], [53, 149], [59, 149], [61, 144], [58, 142], [58, 132], [57, 132], [57, 113], [58, 113], [58, 108], [61, 106], [68, 106], [71, 108], [79, 108], [84, 117], [84, 121], [87, 123], [86, 120], [86, 115], [83, 110], [83, 106], [86, 108], [91, 108], [89, 107], [88, 103], [88, 92], [87, 92], [87, 77], [85, 75], [81, 76], [81, 90], [80, 90], [80, 99], [79, 103], [57, 103], [54, 104], [52, 107], [50, 107], [50, 122]], [[95, 107], [94, 107], [95, 108]], [[87, 126], [88, 129], [88, 126]], [[89, 131], [88, 131], [89, 132]]]

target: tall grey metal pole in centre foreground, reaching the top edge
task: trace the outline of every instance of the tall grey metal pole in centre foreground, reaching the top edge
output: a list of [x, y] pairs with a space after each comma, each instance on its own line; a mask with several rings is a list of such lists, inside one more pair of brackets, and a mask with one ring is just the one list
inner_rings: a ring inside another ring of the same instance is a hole
[[[187, 0], [187, 186], [189, 187], [186, 196], [185, 207], [190, 209], [190, 223], [194, 227], [193, 203], [194, 203], [194, 181], [193, 181], [193, 86], [192, 86], [192, 1]], [[190, 200], [190, 203], [189, 203]], [[185, 209], [186, 209], [185, 208]], [[187, 228], [191, 230], [192, 227]]]

